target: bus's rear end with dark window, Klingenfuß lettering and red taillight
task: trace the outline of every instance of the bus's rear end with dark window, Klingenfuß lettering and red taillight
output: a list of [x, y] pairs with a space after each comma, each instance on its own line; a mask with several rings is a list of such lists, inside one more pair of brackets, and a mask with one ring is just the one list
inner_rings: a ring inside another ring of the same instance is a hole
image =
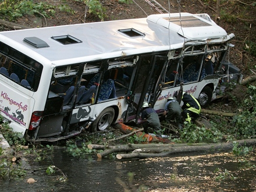
[[[0, 42], [0, 115], [14, 131], [23, 135], [38, 124], [41, 115], [34, 111], [42, 65]], [[34, 111], [34, 112], [33, 112]]]

